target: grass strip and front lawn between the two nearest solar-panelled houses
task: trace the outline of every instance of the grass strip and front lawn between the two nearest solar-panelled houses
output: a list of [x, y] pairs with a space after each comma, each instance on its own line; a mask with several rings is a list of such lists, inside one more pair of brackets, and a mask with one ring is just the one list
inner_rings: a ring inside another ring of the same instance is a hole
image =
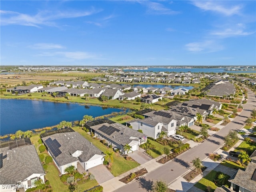
[[[93, 139], [89, 134], [87, 134], [84, 130], [80, 129], [79, 127], [73, 127], [76, 132], [80, 133], [84, 138], [86, 138], [88, 141], [92, 142], [97, 148], [99, 148], [102, 152], [113, 151], [112, 149], [108, 148], [107, 146], [103, 145], [100, 140]], [[135, 161], [131, 160], [125, 160], [124, 157], [122, 157], [119, 153], [114, 153], [114, 161], [112, 163], [112, 167], [110, 172], [114, 176], [118, 176], [120, 174], [123, 174], [140, 164], [138, 164]]]

